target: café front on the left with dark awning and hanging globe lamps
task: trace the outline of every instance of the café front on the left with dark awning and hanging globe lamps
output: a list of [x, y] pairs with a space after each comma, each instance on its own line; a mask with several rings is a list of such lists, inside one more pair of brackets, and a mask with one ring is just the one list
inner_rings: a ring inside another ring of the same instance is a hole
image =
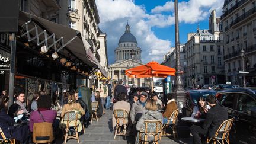
[[[14, 92], [22, 89], [26, 95], [35, 91], [60, 94], [79, 85], [89, 86], [89, 76], [99, 71], [102, 78], [107, 76], [79, 31], [20, 12], [16, 37]], [[8, 34], [1, 34], [0, 48], [5, 57], [0, 58], [0, 88], [4, 90], [9, 89]]]

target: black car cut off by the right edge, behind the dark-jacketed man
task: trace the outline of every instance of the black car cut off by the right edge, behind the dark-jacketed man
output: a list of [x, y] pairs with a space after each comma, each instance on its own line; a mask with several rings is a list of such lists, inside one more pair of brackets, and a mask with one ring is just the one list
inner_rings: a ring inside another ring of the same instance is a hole
[[218, 103], [235, 119], [229, 138], [231, 143], [256, 143], [256, 89], [229, 88], [218, 91]]

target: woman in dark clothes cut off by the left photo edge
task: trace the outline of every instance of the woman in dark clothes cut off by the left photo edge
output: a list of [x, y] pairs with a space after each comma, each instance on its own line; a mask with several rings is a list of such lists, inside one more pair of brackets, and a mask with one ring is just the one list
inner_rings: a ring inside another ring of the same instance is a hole
[[[27, 143], [30, 136], [29, 127], [23, 125], [21, 127], [14, 127], [15, 121], [7, 114], [8, 96], [0, 96], [0, 127], [4, 132], [5, 137], [16, 139], [21, 143]], [[2, 139], [2, 136], [0, 135]]]

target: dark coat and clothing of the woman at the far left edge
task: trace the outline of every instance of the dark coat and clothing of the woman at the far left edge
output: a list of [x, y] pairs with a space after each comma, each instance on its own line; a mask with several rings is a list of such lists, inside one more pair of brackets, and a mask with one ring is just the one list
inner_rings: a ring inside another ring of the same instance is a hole
[[[25, 142], [25, 140], [27, 140], [29, 137], [29, 126], [24, 125], [21, 127], [15, 127], [14, 124], [14, 119], [12, 119], [4, 108], [2, 108], [0, 110], [0, 127], [4, 132], [5, 137], [14, 138], [20, 142]], [[0, 138], [2, 138], [1, 135]]]

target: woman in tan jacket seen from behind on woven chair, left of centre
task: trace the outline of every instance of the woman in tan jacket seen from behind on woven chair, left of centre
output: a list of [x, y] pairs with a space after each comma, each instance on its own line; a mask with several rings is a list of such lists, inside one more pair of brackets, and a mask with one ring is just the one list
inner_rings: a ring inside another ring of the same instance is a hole
[[[81, 115], [84, 115], [85, 114], [85, 111], [84, 109], [81, 107], [81, 105], [79, 103], [76, 103], [76, 98], [75, 98], [75, 94], [72, 93], [72, 94], [69, 94], [68, 96], [68, 104], [65, 104], [63, 105], [63, 108], [62, 108], [62, 113], [60, 114], [60, 117], [64, 117], [65, 116], [65, 113], [68, 112], [68, 111], [78, 111], [79, 113], [81, 113]], [[61, 123], [65, 124], [65, 122], [61, 121]], [[81, 132], [82, 131], [82, 125], [80, 123], [80, 120], [78, 120], [78, 132]]]

